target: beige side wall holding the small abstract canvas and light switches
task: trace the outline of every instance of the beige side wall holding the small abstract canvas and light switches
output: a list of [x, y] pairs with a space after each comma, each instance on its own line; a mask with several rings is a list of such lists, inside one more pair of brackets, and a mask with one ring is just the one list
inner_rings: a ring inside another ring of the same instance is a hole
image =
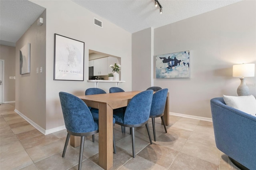
[[[15, 109], [42, 128], [46, 128], [46, 11], [42, 26], [37, 20], [16, 42]], [[20, 75], [20, 49], [30, 43], [30, 73]], [[37, 74], [36, 68], [42, 67]]]

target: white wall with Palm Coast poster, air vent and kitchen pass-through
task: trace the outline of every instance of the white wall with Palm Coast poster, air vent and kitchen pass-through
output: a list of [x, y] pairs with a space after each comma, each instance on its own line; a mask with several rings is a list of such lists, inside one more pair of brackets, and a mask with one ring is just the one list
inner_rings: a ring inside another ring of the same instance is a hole
[[[100, 51], [122, 58], [122, 80], [120, 87], [131, 91], [132, 85], [132, 35], [104, 18], [93, 14], [72, 1], [37, 1], [32, 2], [46, 8], [46, 130], [64, 125], [58, 93], [65, 91], [74, 95], [84, 95], [88, 83], [88, 50]], [[93, 24], [94, 17], [103, 22], [103, 28]], [[85, 81], [54, 81], [54, 33], [73, 38], [85, 43], [84, 77]], [[98, 88], [108, 89], [115, 83], [99, 83]]]

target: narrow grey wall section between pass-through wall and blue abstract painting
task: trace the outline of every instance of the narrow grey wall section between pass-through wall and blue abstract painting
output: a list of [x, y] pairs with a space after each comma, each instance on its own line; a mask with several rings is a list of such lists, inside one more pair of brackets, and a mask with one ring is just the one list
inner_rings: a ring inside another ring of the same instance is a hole
[[132, 90], [153, 86], [153, 28], [132, 34]]

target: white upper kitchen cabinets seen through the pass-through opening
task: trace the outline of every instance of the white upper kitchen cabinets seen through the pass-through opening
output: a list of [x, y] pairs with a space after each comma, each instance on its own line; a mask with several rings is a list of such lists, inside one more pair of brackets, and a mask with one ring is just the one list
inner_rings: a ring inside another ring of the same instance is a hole
[[[108, 75], [108, 73], [112, 73], [112, 68], [109, 66], [115, 63], [118, 63], [116, 57], [104, 57], [99, 59], [90, 60], [93, 62], [93, 75]], [[90, 63], [89, 63], [90, 65]]]

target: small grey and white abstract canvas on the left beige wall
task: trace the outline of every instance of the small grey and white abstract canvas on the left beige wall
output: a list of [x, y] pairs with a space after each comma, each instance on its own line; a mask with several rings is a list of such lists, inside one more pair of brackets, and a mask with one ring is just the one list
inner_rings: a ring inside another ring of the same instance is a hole
[[20, 49], [20, 74], [30, 73], [30, 43]]

